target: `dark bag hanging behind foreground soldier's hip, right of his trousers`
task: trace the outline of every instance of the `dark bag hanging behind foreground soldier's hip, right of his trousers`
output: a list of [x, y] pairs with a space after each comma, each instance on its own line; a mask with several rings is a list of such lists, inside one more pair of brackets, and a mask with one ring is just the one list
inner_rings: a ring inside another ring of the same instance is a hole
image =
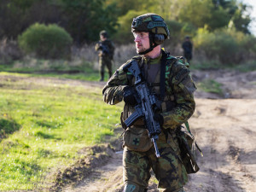
[[[181, 150], [181, 159], [188, 174], [199, 171], [199, 166], [195, 160], [194, 145], [201, 152], [201, 149], [195, 143], [195, 137], [190, 131], [185, 131], [183, 126], [177, 127], [177, 141]], [[201, 153], [202, 155], [202, 153]]]

